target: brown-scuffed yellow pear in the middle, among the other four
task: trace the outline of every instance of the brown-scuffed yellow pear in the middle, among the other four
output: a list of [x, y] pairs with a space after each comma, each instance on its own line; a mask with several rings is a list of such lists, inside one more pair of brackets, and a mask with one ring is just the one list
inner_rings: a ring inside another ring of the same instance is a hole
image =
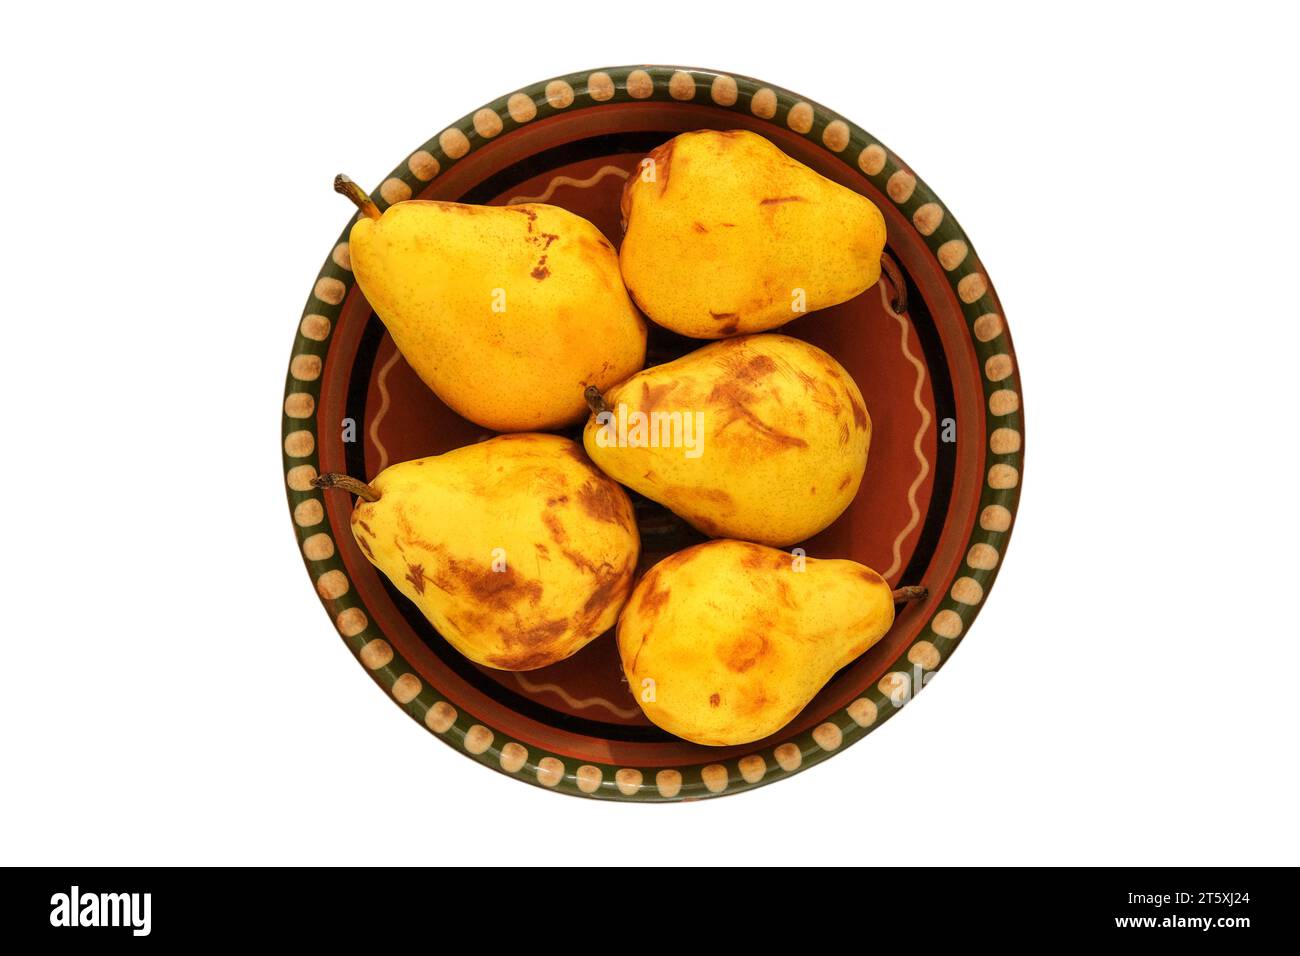
[[592, 460], [711, 537], [803, 541], [849, 506], [867, 467], [871, 418], [853, 377], [788, 336], [714, 342], [589, 401]]

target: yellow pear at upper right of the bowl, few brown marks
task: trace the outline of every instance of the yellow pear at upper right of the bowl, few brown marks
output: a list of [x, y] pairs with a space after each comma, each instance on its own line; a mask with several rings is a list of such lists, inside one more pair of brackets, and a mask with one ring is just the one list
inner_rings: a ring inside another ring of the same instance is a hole
[[880, 278], [870, 199], [745, 130], [682, 133], [623, 191], [619, 263], [637, 306], [694, 338], [764, 332]]

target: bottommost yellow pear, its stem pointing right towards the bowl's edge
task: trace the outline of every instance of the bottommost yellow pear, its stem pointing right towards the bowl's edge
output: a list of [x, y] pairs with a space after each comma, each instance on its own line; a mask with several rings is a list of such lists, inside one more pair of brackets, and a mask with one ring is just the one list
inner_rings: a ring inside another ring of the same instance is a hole
[[853, 561], [708, 541], [641, 579], [619, 618], [619, 657], [653, 723], [697, 744], [748, 744], [788, 724], [880, 640], [894, 601], [924, 594], [890, 592]]

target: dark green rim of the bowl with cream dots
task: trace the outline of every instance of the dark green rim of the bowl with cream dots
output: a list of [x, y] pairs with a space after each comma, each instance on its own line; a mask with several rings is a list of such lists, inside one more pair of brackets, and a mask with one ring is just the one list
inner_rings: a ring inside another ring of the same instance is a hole
[[906, 216], [942, 268], [961, 303], [982, 367], [984, 464], [979, 515], [965, 559], [918, 637], [876, 684], [810, 731], [741, 757], [650, 769], [580, 763], [512, 740], [459, 711], [385, 640], [347, 578], [325, 519], [322, 493], [311, 486], [320, 464], [316, 403], [334, 323], [352, 287], [348, 230], [321, 267], [299, 321], [285, 382], [282, 463], [299, 550], [343, 641], [370, 676], [415, 721], [480, 763], [542, 790], [621, 801], [677, 801], [753, 790], [814, 766], [888, 721], [919, 692], [963, 640], [1001, 567], [1015, 523], [1023, 475], [1020, 380], [1002, 310], [974, 246], [948, 207], [864, 129], [779, 86], [738, 74], [679, 66], [606, 66], [541, 81], [462, 117], [412, 152], [372, 194], [381, 209], [411, 198], [441, 170], [499, 135], [537, 118], [629, 101], [705, 101], [745, 112], [802, 134], [866, 177]]

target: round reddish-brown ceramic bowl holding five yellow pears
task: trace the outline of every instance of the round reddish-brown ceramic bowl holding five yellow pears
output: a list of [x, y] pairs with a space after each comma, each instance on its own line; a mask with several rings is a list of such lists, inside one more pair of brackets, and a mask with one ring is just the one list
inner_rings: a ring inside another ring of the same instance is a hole
[[[848, 118], [762, 81], [712, 70], [619, 66], [534, 83], [493, 100], [404, 157], [373, 193], [404, 199], [552, 203], [621, 239], [619, 195], [653, 147], [684, 130], [748, 129], [884, 212], [907, 311], [880, 284], [780, 332], [829, 351], [874, 423], [854, 503], [803, 542], [931, 596], [840, 671], [767, 740], [710, 748], [650, 724], [612, 635], [543, 670], [478, 667], [370, 566], [348, 531], [351, 499], [318, 472], [373, 479], [394, 462], [488, 437], [416, 378], [350, 271], [347, 228], [312, 284], [294, 339], [283, 466], [298, 545], [344, 645], [408, 717], [514, 779], [607, 800], [736, 793], [783, 780], [858, 743], [911, 700], [970, 631], [1006, 551], [1020, 488], [1023, 408], [997, 297], [948, 207]], [[954, 143], [953, 148], [965, 148]], [[321, 183], [321, 202], [346, 204]], [[351, 226], [351, 219], [347, 226]], [[699, 345], [650, 326], [649, 363]], [[576, 434], [576, 429], [573, 432]], [[637, 499], [642, 568], [701, 537]], [[864, 771], [866, 773], [866, 771]]]

